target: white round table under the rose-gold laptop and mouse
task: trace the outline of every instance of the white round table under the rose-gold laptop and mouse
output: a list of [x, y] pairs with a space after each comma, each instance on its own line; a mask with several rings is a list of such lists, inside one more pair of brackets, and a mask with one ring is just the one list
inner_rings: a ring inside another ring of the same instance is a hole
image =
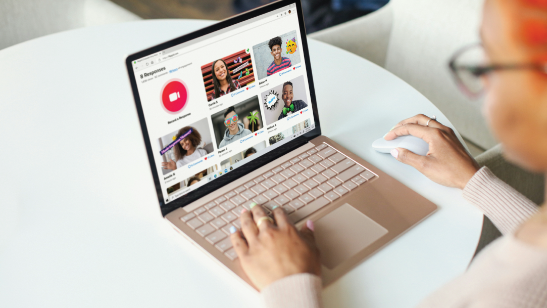
[[[257, 307], [170, 227], [125, 56], [210, 25], [146, 20], [0, 51], [0, 306]], [[322, 133], [439, 210], [323, 292], [326, 307], [413, 307], [467, 268], [482, 215], [371, 143], [417, 113], [450, 121], [368, 60], [309, 39]]]

